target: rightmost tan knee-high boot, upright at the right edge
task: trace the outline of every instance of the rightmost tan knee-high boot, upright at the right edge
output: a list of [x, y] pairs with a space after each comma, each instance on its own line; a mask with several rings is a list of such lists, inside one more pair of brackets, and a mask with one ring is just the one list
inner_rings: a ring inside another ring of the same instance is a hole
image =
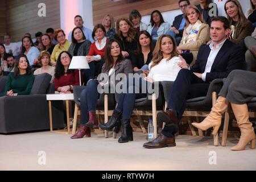
[[255, 148], [255, 133], [253, 124], [249, 121], [249, 113], [247, 104], [231, 103], [234, 115], [236, 116], [238, 126], [241, 130], [241, 136], [238, 144], [231, 150], [245, 150], [247, 143], [251, 142], [251, 148]]

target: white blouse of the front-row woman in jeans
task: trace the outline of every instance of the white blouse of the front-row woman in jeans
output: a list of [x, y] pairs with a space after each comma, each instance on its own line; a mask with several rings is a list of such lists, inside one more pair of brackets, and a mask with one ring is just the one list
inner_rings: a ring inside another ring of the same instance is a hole
[[[162, 59], [158, 65], [150, 69], [148, 77], [153, 78], [155, 81], [175, 81], [180, 67], [177, 65], [181, 62], [179, 57], [172, 57], [172, 59]], [[150, 68], [152, 62], [148, 65]]]

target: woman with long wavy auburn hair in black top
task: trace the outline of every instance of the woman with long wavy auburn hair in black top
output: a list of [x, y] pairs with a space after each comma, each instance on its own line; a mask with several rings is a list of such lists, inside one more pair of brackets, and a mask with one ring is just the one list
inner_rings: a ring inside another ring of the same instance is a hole
[[120, 18], [117, 20], [115, 39], [121, 43], [123, 57], [130, 59], [131, 53], [137, 49], [137, 33], [128, 19]]

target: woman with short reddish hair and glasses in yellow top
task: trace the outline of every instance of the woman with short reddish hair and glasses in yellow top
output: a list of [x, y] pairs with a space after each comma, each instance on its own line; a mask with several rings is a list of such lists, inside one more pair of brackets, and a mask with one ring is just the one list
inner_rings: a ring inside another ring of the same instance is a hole
[[63, 51], [68, 51], [68, 48], [71, 44], [66, 38], [65, 38], [65, 33], [62, 29], [57, 29], [54, 32], [54, 38], [57, 40], [58, 44], [54, 47], [51, 55], [51, 64], [53, 67], [56, 66], [56, 61], [60, 55], [61, 52]]

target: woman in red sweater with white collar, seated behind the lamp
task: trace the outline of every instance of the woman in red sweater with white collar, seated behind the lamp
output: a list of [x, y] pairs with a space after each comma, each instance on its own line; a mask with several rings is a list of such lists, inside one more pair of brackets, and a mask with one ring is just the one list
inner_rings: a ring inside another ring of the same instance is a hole
[[101, 73], [102, 65], [105, 62], [105, 47], [108, 39], [105, 37], [106, 30], [102, 24], [96, 24], [93, 28], [92, 36], [96, 40], [90, 46], [90, 51], [86, 56], [86, 60], [89, 63], [90, 69], [85, 69], [83, 71], [85, 77], [85, 83], [95, 76]]

